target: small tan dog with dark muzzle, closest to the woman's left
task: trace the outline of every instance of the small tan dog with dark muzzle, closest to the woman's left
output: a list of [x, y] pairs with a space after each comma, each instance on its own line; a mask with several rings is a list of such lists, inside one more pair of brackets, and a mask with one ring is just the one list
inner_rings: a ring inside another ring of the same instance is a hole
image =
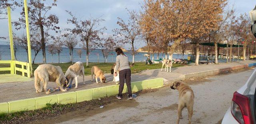
[[93, 66], [91, 69], [91, 73], [92, 73], [92, 81], [93, 81], [93, 75], [95, 75], [96, 83], [98, 83], [98, 77], [100, 78], [101, 83], [105, 83], [106, 77], [103, 74], [103, 71], [100, 70], [98, 66]]

